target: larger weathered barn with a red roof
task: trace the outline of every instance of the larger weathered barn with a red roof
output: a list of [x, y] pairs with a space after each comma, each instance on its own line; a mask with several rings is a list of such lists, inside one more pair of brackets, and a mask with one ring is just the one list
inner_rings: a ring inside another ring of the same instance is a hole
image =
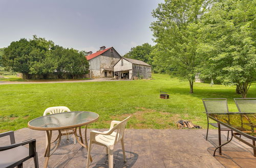
[[114, 65], [122, 58], [121, 55], [113, 48], [100, 47], [95, 53], [88, 52], [86, 56], [90, 65], [90, 77], [114, 77]]

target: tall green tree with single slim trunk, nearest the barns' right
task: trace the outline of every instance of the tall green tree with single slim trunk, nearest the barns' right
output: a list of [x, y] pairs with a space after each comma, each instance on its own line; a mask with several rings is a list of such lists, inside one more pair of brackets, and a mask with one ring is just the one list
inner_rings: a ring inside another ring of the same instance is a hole
[[153, 10], [151, 29], [155, 42], [163, 54], [159, 55], [163, 66], [173, 69], [172, 75], [189, 81], [190, 93], [194, 93], [193, 84], [200, 55], [198, 30], [200, 17], [208, 7], [204, 0], [165, 0]]

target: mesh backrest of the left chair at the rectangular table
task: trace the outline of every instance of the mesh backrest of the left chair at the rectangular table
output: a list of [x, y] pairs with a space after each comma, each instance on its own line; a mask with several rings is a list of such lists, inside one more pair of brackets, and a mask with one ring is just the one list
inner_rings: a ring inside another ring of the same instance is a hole
[[227, 99], [202, 99], [205, 112], [208, 113], [229, 113]]

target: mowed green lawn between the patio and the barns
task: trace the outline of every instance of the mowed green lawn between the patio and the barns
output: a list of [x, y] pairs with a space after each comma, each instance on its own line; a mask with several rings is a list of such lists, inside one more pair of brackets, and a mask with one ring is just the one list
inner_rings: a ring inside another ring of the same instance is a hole
[[[160, 99], [160, 90], [170, 99]], [[51, 106], [98, 113], [91, 128], [108, 128], [112, 120], [129, 115], [129, 128], [174, 129], [180, 119], [206, 128], [202, 98], [227, 98], [230, 111], [238, 111], [233, 98], [241, 96], [235, 91], [235, 87], [195, 83], [195, 93], [189, 94], [187, 81], [165, 74], [153, 74], [152, 80], [0, 85], [0, 132], [27, 127]], [[247, 97], [256, 97], [256, 83]]]

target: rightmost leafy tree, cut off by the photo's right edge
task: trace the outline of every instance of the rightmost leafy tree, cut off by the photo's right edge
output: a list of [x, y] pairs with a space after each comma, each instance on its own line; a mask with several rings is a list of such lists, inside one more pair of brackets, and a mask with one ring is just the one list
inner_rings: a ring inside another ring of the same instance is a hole
[[200, 30], [203, 75], [237, 86], [242, 97], [256, 80], [255, 5], [255, 0], [216, 1]]

